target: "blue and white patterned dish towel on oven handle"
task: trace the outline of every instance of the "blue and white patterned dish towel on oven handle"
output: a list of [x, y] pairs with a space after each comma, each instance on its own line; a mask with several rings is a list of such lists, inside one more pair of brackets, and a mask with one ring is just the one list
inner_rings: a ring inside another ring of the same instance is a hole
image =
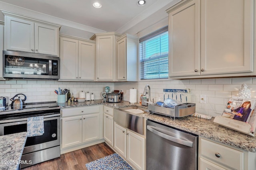
[[28, 117], [27, 132], [28, 137], [43, 135], [44, 116]]

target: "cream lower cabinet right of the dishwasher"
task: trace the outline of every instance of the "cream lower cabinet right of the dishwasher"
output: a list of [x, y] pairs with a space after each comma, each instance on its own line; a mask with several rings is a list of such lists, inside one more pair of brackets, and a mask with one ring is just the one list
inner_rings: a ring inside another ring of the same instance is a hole
[[199, 137], [198, 170], [255, 170], [256, 153]]

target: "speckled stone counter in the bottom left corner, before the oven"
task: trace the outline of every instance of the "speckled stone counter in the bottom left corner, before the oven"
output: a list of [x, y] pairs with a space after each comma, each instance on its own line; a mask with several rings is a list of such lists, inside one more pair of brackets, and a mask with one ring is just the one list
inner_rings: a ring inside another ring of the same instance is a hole
[[26, 143], [27, 133], [0, 136], [0, 169], [17, 170]]

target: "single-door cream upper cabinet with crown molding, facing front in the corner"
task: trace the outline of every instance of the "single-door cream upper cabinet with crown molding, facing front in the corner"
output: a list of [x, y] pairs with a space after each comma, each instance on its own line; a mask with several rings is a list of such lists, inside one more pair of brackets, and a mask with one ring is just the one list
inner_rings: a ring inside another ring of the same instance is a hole
[[122, 34], [115, 32], [96, 33], [96, 81], [116, 80], [116, 39]]

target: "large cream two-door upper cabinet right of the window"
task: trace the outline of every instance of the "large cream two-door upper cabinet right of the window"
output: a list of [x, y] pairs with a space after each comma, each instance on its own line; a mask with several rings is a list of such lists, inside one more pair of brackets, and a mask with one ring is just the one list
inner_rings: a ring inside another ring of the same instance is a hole
[[169, 78], [256, 75], [254, 0], [182, 0], [169, 14]]

